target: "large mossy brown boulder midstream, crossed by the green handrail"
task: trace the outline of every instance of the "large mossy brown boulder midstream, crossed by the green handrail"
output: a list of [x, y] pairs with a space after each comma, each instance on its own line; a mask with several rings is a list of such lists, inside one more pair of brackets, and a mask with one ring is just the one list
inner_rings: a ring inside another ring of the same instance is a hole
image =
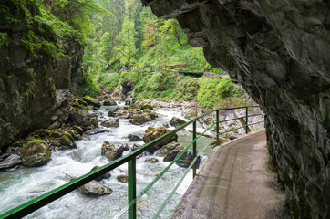
[[[161, 135], [169, 132], [170, 130], [164, 128], [164, 127], [148, 127], [148, 129], [146, 130], [146, 132], [144, 133], [143, 136], [143, 141], [145, 143], [148, 143], [152, 140], [155, 140], [157, 138], [159, 138]], [[152, 148], [150, 148], [149, 152], [153, 153], [157, 150], [159, 150], [161, 147], [163, 147], [164, 145], [172, 142], [172, 141], [178, 141], [178, 135], [174, 134], [171, 137], [167, 137], [162, 141], [159, 141], [158, 143], [155, 144], [155, 146], [153, 146]]]

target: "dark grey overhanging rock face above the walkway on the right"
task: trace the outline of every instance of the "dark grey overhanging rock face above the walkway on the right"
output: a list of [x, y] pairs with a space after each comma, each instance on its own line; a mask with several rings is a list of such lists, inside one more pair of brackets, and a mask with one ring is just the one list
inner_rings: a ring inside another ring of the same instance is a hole
[[267, 116], [294, 218], [330, 217], [330, 2], [142, 0], [175, 17]]

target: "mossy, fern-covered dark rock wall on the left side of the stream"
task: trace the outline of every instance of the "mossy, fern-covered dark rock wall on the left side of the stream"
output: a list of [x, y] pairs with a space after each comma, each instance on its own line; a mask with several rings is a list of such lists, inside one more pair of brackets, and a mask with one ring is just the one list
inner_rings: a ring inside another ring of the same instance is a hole
[[[8, 0], [0, 9], [7, 13], [0, 19], [0, 151], [5, 151], [29, 132], [67, 120], [69, 89], [77, 87], [72, 79], [81, 78], [84, 47], [74, 37], [64, 47], [51, 26], [29, 18], [39, 15], [35, 1]], [[65, 56], [56, 57], [57, 48]]]

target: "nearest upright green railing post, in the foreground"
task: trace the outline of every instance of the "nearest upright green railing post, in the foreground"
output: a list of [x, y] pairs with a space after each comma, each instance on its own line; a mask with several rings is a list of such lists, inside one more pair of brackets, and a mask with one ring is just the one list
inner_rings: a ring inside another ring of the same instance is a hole
[[[129, 162], [129, 203], [137, 197], [136, 158]], [[129, 219], [137, 218], [137, 203], [129, 207]]]

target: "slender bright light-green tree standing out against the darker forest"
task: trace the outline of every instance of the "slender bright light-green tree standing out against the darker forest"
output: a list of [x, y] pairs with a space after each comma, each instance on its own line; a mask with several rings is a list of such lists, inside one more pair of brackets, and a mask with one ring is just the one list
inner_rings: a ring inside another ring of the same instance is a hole
[[121, 32], [119, 36], [117, 36], [117, 40], [119, 41], [117, 51], [119, 52], [121, 63], [128, 65], [129, 67], [137, 50], [135, 47], [135, 43], [137, 41], [135, 35], [136, 31], [134, 28], [134, 23], [129, 20], [129, 16], [126, 16]]

